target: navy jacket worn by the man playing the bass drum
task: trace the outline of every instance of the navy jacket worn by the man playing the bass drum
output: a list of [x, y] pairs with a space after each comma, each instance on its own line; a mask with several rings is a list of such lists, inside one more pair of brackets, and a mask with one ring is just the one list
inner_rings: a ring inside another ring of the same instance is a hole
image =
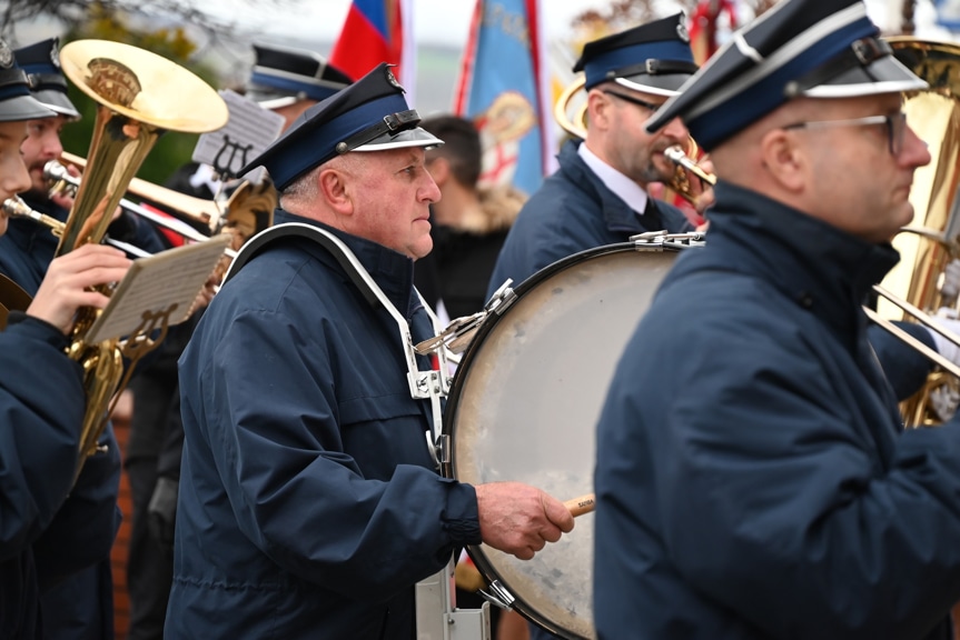
[[[413, 261], [335, 233], [414, 341], [432, 336]], [[217, 293], [180, 382], [166, 637], [408, 640], [413, 586], [479, 524], [473, 487], [434, 470], [387, 311], [316, 242], [274, 242]]]

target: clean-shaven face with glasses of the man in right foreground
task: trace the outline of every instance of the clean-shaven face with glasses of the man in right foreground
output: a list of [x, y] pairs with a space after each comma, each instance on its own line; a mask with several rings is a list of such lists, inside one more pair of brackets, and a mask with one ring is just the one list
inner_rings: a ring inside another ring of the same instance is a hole
[[909, 127], [901, 126], [900, 111], [899, 93], [822, 100], [808, 121], [872, 116], [889, 120], [791, 129], [812, 163], [810, 213], [870, 242], [887, 242], [912, 222], [913, 172], [930, 162], [930, 153]]

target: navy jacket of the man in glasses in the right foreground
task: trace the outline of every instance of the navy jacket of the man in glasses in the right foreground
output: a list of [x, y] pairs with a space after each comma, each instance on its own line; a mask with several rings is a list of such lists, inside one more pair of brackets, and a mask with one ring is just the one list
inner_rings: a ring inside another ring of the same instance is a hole
[[949, 638], [960, 427], [902, 432], [860, 310], [897, 262], [716, 187], [597, 432], [601, 638]]

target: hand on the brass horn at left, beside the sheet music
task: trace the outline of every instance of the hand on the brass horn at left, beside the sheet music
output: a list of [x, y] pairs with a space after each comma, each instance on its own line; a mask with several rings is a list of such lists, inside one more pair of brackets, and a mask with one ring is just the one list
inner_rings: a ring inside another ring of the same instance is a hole
[[83, 244], [50, 262], [27, 313], [46, 320], [67, 334], [73, 327], [77, 309], [102, 309], [110, 301], [107, 296], [88, 289], [120, 281], [130, 264], [123, 252], [112, 247]]

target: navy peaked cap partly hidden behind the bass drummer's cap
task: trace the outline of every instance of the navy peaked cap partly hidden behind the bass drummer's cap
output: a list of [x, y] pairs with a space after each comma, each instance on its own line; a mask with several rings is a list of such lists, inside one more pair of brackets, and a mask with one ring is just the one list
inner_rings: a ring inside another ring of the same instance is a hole
[[352, 82], [314, 51], [254, 44], [254, 54], [256, 61], [245, 93], [265, 109], [279, 109], [304, 99], [320, 101]]

